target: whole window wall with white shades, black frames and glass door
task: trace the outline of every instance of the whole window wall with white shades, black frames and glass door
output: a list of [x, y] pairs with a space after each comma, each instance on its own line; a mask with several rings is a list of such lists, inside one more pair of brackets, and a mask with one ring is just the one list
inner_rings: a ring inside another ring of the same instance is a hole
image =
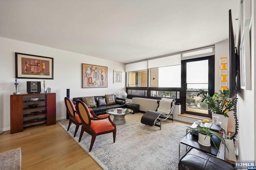
[[127, 97], [175, 98], [181, 113], [211, 117], [197, 94], [214, 94], [214, 54], [210, 46], [125, 64]]

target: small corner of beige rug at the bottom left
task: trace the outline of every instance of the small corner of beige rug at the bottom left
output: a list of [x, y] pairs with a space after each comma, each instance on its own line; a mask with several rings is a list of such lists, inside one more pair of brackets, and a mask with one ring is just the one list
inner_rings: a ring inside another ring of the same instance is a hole
[[0, 153], [0, 170], [21, 170], [21, 148]]

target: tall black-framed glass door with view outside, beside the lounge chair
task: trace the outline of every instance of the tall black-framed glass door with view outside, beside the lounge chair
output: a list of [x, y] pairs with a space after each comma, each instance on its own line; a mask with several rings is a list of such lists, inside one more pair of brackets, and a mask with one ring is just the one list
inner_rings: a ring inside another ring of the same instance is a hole
[[214, 93], [214, 56], [182, 61], [182, 113], [211, 117], [201, 89]]

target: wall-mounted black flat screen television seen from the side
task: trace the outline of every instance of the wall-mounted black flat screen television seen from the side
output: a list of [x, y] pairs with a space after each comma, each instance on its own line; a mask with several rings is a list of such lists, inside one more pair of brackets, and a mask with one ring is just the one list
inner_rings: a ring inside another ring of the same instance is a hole
[[236, 96], [236, 76], [239, 69], [239, 55], [234, 43], [234, 31], [232, 24], [232, 14], [229, 10], [229, 97]]

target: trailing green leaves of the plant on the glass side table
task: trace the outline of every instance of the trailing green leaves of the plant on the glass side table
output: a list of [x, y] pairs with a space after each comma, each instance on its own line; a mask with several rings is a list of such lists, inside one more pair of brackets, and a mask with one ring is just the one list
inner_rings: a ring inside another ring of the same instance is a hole
[[228, 150], [228, 146], [225, 143], [225, 138], [222, 137], [222, 135], [220, 135], [220, 133], [212, 131], [211, 127], [212, 127], [212, 125], [210, 127], [205, 127], [204, 124], [198, 123], [197, 127], [188, 127], [189, 129], [187, 130], [186, 135], [188, 135], [188, 134], [193, 135], [195, 132], [198, 132], [198, 133], [201, 133], [202, 135], [210, 136], [210, 139], [211, 139], [213, 145], [216, 147], [217, 150], [219, 150], [212, 139], [212, 136], [216, 136], [220, 141], [222, 141], [222, 143]]

